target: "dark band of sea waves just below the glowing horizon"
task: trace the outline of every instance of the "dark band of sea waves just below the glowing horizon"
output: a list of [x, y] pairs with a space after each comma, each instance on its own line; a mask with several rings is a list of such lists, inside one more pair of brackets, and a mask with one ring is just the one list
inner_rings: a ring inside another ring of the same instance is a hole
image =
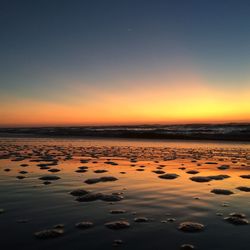
[[250, 124], [0, 128], [0, 136], [250, 142]]

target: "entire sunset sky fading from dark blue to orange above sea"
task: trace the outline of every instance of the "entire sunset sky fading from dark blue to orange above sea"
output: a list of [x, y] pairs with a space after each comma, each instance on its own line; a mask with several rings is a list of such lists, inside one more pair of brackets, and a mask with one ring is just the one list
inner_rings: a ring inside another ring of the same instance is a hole
[[250, 122], [248, 0], [1, 0], [0, 126]]

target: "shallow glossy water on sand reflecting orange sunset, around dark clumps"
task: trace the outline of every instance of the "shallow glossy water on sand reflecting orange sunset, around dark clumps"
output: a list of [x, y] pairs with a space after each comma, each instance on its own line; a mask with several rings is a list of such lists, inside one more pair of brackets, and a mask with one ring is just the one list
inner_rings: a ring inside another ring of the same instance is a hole
[[[222, 165], [227, 167], [221, 169]], [[76, 172], [79, 167], [86, 167], [82, 168], [85, 172]], [[187, 173], [189, 170], [198, 173]], [[165, 179], [164, 174], [176, 174], [171, 175], [176, 178]], [[47, 175], [60, 179], [39, 179]], [[244, 213], [245, 221], [250, 220], [250, 192], [238, 189], [250, 189], [250, 179], [242, 175], [250, 175], [247, 143], [2, 138], [1, 246], [157, 250], [192, 244], [195, 249], [247, 250], [249, 225], [224, 219], [236, 212]], [[85, 183], [103, 176], [117, 180]], [[208, 180], [190, 179], [197, 176]], [[79, 202], [70, 194], [75, 189], [101, 193], [102, 197], [113, 193], [111, 198], [119, 200]], [[213, 189], [232, 193], [216, 194]], [[111, 210], [124, 211], [113, 214]], [[135, 222], [138, 217], [147, 220]], [[119, 230], [105, 226], [117, 220], [130, 226]], [[93, 226], [79, 229], [75, 225], [81, 221], [93, 222]], [[193, 233], [179, 230], [180, 223], [186, 221], [201, 223], [205, 228]], [[35, 237], [34, 233], [57, 224], [64, 224], [59, 237]], [[114, 244], [114, 240], [122, 242]]]

